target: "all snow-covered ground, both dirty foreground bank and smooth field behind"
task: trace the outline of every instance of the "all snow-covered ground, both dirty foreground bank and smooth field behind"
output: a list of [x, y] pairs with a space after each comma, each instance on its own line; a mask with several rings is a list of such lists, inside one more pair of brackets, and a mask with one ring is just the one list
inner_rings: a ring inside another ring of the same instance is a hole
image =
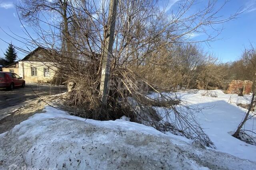
[[197, 117], [216, 150], [124, 118], [95, 121], [46, 106], [45, 113], [0, 135], [0, 169], [256, 169], [256, 147], [228, 133], [244, 115], [236, 102], [249, 102], [250, 96], [231, 95], [229, 104], [230, 95], [220, 90], [214, 90], [218, 98], [201, 96], [202, 92], [177, 94], [191, 105], [209, 107]]

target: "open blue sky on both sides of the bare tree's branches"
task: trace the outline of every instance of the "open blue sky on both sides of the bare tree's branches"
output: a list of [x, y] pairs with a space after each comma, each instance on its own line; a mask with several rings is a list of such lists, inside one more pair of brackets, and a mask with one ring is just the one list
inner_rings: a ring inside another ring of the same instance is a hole
[[[168, 4], [166, 9], [172, 10], [175, 6], [173, 3], [178, 2], [179, 0], [162, 1], [162, 4]], [[204, 0], [201, 1], [203, 2]], [[223, 1], [224, 0], [219, 0], [220, 3]], [[198, 6], [195, 6], [195, 8], [200, 8], [202, 2], [200, 3], [200, 0], [198, 2]], [[0, 27], [10, 35], [15, 33], [24, 37], [24, 29], [18, 19], [18, 14], [14, 5], [15, 3], [18, 3], [18, 1], [0, 0]], [[238, 8], [248, 8], [248, 10], [243, 14], [240, 14], [236, 20], [223, 24], [224, 30], [218, 37], [220, 40], [210, 42], [210, 47], [205, 43], [202, 43], [202, 47], [205, 51], [213, 53], [222, 62], [235, 61], [238, 59], [244, 48], [250, 45], [250, 42], [253, 45], [256, 45], [256, 0], [230, 0], [220, 14], [223, 16], [230, 16], [230, 14], [233, 14]], [[26, 45], [9, 35], [6, 35], [2, 29], [0, 29], [1, 39], [7, 42], [12, 41], [14, 45], [20, 48], [26, 48]], [[26, 29], [30, 31], [28, 26], [26, 26]], [[203, 35], [195, 35], [193, 39], [200, 39], [200, 36]], [[0, 40], [0, 57], [3, 57], [4, 52], [8, 47], [8, 44], [4, 41]], [[21, 59], [24, 57], [24, 54], [18, 53], [18, 57]]]

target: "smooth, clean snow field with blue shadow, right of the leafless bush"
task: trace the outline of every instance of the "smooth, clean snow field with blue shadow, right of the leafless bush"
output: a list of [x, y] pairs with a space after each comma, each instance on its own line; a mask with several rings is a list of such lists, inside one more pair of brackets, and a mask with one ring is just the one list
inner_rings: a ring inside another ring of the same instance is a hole
[[[176, 95], [191, 106], [196, 105], [199, 108], [206, 108], [202, 109], [202, 113], [198, 113], [197, 119], [206, 134], [214, 142], [217, 151], [256, 161], [256, 146], [247, 144], [230, 135], [231, 132], [236, 130], [247, 110], [236, 104], [249, 104], [251, 96], [224, 94], [222, 90], [209, 91], [216, 93], [218, 97], [202, 96], [205, 90], [180, 91]], [[171, 95], [171, 93], [166, 95]], [[152, 98], [157, 96], [158, 94], [150, 95]], [[253, 125], [254, 120], [248, 120], [245, 127], [248, 130], [252, 130]]]

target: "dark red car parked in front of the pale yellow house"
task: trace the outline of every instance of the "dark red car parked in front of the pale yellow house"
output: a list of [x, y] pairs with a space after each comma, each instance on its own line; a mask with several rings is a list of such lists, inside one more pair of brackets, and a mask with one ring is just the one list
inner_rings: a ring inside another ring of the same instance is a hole
[[9, 88], [13, 90], [14, 87], [25, 87], [25, 80], [14, 72], [0, 72], [0, 88]]

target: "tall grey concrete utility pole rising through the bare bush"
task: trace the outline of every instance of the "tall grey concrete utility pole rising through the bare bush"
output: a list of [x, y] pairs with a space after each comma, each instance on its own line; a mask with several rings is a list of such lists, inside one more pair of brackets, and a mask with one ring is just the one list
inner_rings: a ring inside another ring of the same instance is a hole
[[106, 28], [106, 39], [103, 47], [102, 72], [100, 80], [100, 92], [102, 94], [103, 104], [107, 104], [108, 101], [108, 84], [110, 80], [110, 58], [112, 57], [112, 47], [116, 27], [116, 8], [117, 0], [110, 0], [108, 12], [108, 25]]

